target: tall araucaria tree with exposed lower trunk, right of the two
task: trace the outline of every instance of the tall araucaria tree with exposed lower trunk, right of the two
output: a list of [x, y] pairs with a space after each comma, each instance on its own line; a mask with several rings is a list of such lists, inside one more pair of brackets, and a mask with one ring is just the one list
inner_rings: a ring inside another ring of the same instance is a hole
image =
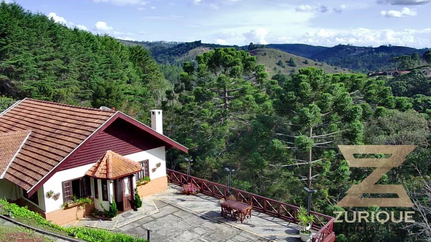
[[[328, 204], [328, 188], [336, 189], [350, 175], [346, 161], [336, 159], [336, 145], [361, 144], [361, 120], [372, 113], [365, 100], [390, 102], [390, 89], [386, 91], [384, 83], [365, 75], [300, 69], [275, 90], [274, 108], [283, 120], [275, 138], [291, 150], [291, 158], [271, 165], [293, 169]], [[326, 178], [329, 174], [331, 181]]]

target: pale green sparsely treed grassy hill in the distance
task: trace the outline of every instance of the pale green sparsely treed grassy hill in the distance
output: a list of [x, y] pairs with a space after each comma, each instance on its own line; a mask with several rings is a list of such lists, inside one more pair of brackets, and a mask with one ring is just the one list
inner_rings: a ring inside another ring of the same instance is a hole
[[[290, 73], [292, 73], [292, 71], [298, 71], [299, 68], [303, 68], [307, 66], [315, 66], [318, 68], [323, 68], [326, 73], [337, 73], [337, 72], [348, 73], [349, 72], [347, 69], [343, 70], [339, 67], [333, 67], [333, 66], [324, 64], [322, 62], [316, 62], [311, 59], [286, 53], [281, 50], [273, 49], [273, 48], [259, 48], [259, 49], [250, 51], [250, 53], [257, 57], [258, 64], [263, 64], [267, 67], [269, 76], [277, 74], [279, 70], [282, 73], [289, 75]], [[290, 65], [289, 63], [290, 58], [293, 58], [295, 60], [295, 63], [296, 63], [295, 67]], [[280, 60], [282, 61], [283, 65], [277, 64], [279, 63]], [[308, 60], [308, 64], [306, 63], [306, 60]]]

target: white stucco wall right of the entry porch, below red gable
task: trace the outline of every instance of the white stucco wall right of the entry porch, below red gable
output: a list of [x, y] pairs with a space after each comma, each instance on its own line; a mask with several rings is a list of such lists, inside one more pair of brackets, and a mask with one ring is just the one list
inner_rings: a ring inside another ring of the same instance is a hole
[[[151, 180], [166, 176], [166, 160], [164, 146], [125, 155], [124, 157], [137, 162], [148, 160], [148, 169], [150, 170], [149, 173]], [[153, 168], [156, 168], [156, 164], [159, 162], [161, 163], [161, 166], [157, 168], [155, 172], [153, 172]]]

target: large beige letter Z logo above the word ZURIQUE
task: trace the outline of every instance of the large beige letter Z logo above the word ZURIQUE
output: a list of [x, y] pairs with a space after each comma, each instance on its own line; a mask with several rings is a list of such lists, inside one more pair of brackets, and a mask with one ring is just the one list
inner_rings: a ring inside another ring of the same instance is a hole
[[[338, 145], [350, 167], [377, 167], [364, 181], [353, 185], [337, 206], [413, 207], [402, 185], [376, 185], [393, 167], [400, 166], [417, 145]], [[389, 158], [355, 158], [354, 154], [391, 154]], [[361, 198], [362, 194], [397, 194], [398, 198]]]

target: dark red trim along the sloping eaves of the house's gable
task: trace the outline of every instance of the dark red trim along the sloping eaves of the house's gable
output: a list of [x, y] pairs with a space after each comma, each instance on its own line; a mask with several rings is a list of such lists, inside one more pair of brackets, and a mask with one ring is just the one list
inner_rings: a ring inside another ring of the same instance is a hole
[[162, 140], [163, 143], [165, 143], [166, 147], [173, 147], [176, 148], [178, 150], [181, 150], [185, 153], [188, 153], [188, 149], [178, 143], [176, 143], [175, 141], [167, 138], [166, 136], [163, 136], [162, 134], [159, 134], [158, 132], [156, 132], [155, 130], [153, 130], [152, 128], [136, 121], [135, 119], [121, 113], [121, 112], [117, 112], [115, 113], [106, 123], [104, 123], [97, 132], [95, 132], [93, 135], [91, 135], [89, 137], [89, 139], [87, 139], [85, 142], [83, 142], [78, 148], [76, 148], [66, 159], [64, 159], [60, 164], [58, 164], [54, 170], [49, 173], [45, 178], [43, 178], [37, 186], [35, 186], [32, 190], [30, 190], [28, 192], [28, 195], [31, 196], [32, 194], [34, 194], [37, 190], [39, 190], [39, 188], [41, 188], [56, 172], [60, 171], [61, 168], [63, 168], [66, 164], [68, 164], [68, 161], [72, 160], [76, 154], [79, 153], [79, 151], [81, 151], [82, 149], [84, 149], [88, 144], [90, 144], [90, 142], [92, 142], [99, 134], [101, 134], [103, 131], [105, 131], [110, 124], [112, 124], [115, 120], [117, 120], [118, 118], [121, 118], [122, 120], [133, 124], [134, 126], [140, 128], [141, 130], [149, 133], [150, 135], [156, 137], [159, 140]]

